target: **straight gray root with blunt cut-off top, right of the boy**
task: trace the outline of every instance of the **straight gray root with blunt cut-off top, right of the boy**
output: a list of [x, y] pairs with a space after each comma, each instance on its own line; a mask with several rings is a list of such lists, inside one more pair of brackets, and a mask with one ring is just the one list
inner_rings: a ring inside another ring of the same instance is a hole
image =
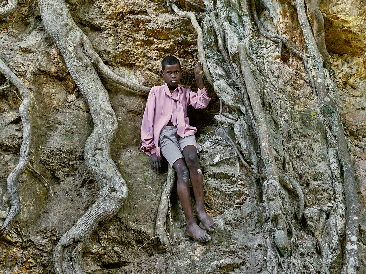
[[251, 72], [247, 59], [246, 46], [239, 43], [238, 53], [242, 74], [250, 98], [251, 108], [258, 127], [258, 141], [261, 148], [261, 155], [266, 166], [267, 180], [263, 184], [263, 194], [265, 196], [264, 201], [267, 201], [268, 203], [270, 220], [277, 227], [277, 231], [275, 232], [276, 246], [280, 249], [281, 253], [285, 255], [290, 251], [290, 244], [288, 243], [287, 238], [288, 227], [285, 222], [284, 214], [281, 212], [281, 201], [279, 198], [280, 181], [276, 161], [273, 157], [272, 148], [269, 142], [269, 131], [266, 116], [262, 108], [257, 92], [258, 88], [255, 84], [253, 73]]

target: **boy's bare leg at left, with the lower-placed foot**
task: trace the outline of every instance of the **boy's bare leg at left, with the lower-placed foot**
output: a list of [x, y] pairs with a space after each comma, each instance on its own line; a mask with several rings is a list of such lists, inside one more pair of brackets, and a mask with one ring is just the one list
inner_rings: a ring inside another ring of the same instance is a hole
[[189, 190], [189, 171], [184, 158], [176, 160], [173, 164], [177, 172], [177, 190], [182, 209], [187, 220], [186, 233], [195, 240], [206, 242], [211, 239], [206, 231], [200, 228], [193, 217], [191, 194]]

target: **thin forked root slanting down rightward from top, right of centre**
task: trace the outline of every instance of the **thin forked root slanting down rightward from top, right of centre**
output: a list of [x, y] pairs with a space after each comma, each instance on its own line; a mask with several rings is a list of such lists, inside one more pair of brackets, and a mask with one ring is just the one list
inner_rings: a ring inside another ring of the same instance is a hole
[[[279, 53], [280, 53], [280, 56], [281, 56], [281, 47], [282, 47], [282, 44], [284, 44], [288, 48], [288, 50], [290, 50], [290, 52], [292, 52], [292, 54], [295, 54], [296, 56], [298, 56], [298, 57], [300, 57], [302, 59], [302, 62], [303, 62], [304, 67], [305, 67], [305, 70], [306, 70], [307, 74], [309, 75], [311, 88], [313, 89], [313, 94], [314, 95], [317, 95], [317, 89], [316, 89], [316, 86], [315, 86], [315, 81], [314, 81], [314, 78], [313, 78], [313, 73], [311, 71], [310, 66], [307, 63], [307, 57], [305, 56], [305, 54], [302, 54], [298, 50], [296, 50], [287, 41], [287, 39], [285, 39], [284, 37], [282, 37], [280, 35], [277, 35], [277, 34], [274, 34], [274, 33], [270, 33], [269, 31], [266, 31], [264, 29], [264, 27], [262, 26], [262, 23], [258, 19], [257, 9], [255, 8], [255, 2], [254, 2], [254, 0], [251, 0], [251, 10], [252, 10], [252, 13], [253, 13], [253, 17], [254, 17], [254, 20], [255, 20], [255, 24], [257, 24], [257, 27], [258, 27], [259, 32], [263, 36], [267, 37], [268, 39], [271, 39], [272, 41], [275, 41], [275, 42], [279, 43]], [[327, 53], [327, 55], [328, 55], [328, 53]], [[328, 57], [328, 60], [329, 60], [329, 57]]]

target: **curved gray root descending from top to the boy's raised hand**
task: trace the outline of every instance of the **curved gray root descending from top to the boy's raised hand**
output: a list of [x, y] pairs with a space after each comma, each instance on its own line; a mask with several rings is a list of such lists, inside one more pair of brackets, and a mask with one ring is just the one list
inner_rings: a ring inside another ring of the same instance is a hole
[[197, 31], [198, 54], [199, 54], [199, 58], [201, 60], [203, 72], [205, 73], [206, 79], [209, 81], [210, 85], [213, 86], [214, 80], [213, 80], [210, 70], [208, 68], [206, 56], [205, 56], [205, 49], [203, 48], [203, 33], [202, 33], [201, 27], [199, 26], [199, 24], [197, 22], [196, 16], [193, 14], [193, 12], [181, 11], [172, 1], [171, 1], [170, 5], [171, 5], [171, 8], [173, 9], [173, 11], [176, 14], [178, 14], [179, 17], [189, 18], [191, 20], [191, 23], [192, 23], [194, 29]]

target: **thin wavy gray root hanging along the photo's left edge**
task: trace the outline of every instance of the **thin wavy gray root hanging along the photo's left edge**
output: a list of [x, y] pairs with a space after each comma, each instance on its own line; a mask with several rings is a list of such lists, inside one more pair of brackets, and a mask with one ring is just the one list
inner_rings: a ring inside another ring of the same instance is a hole
[[0, 60], [0, 72], [6, 77], [8, 82], [13, 83], [18, 88], [20, 95], [22, 96], [22, 103], [19, 106], [20, 118], [23, 122], [23, 141], [20, 146], [19, 152], [19, 164], [12, 170], [7, 179], [7, 191], [8, 198], [10, 201], [10, 210], [5, 218], [3, 227], [4, 236], [9, 233], [14, 225], [16, 217], [20, 212], [20, 199], [18, 195], [18, 189], [16, 187], [16, 181], [19, 176], [23, 173], [28, 165], [29, 158], [29, 146], [31, 141], [31, 122], [28, 115], [30, 106], [30, 93], [25, 84], [20, 80], [9, 68]]

